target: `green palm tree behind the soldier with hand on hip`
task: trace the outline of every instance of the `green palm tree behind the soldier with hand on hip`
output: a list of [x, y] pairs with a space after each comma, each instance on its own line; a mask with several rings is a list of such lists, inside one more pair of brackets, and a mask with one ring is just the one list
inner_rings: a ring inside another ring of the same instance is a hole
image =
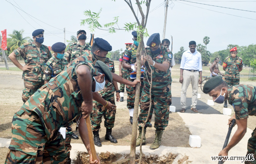
[[9, 34], [11, 38], [7, 38], [7, 47], [10, 48], [10, 51], [17, 49], [23, 43], [27, 43], [29, 41], [33, 41], [30, 37], [23, 38], [24, 30], [14, 30], [12, 34]]

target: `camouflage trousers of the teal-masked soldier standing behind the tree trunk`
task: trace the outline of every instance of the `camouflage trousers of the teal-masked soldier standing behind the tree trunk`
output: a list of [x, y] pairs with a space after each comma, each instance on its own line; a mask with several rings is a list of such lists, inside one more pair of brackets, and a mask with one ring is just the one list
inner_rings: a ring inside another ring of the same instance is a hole
[[[131, 79], [130, 76], [127, 76], [127, 77], [129, 81], [135, 80], [135, 79]], [[141, 86], [140, 86], [140, 98], [141, 98], [141, 93], [144, 86], [143, 79], [140, 79], [140, 82], [141, 82]], [[132, 109], [134, 108], [136, 87], [126, 85], [126, 92], [127, 92], [127, 108]]]

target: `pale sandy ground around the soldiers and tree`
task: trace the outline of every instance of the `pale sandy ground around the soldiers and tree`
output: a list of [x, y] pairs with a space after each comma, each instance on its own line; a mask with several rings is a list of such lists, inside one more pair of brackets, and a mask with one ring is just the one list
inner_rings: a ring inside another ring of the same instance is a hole
[[[0, 63], [0, 67], [2, 67], [1, 64], [2, 63]], [[118, 74], [118, 65], [116, 63], [115, 65], [116, 73]], [[13, 66], [14, 65], [9, 65], [9, 67]], [[172, 75], [174, 77], [176, 75], [179, 75], [178, 67], [174, 67], [172, 69]], [[21, 71], [0, 70], [0, 137], [2, 138], [11, 138], [11, 121], [13, 114], [23, 104], [21, 100], [21, 94], [23, 89], [23, 80], [21, 76]], [[256, 85], [254, 81], [245, 81], [241, 83]], [[180, 97], [180, 91], [181, 84], [178, 83], [178, 78], [173, 78], [172, 96]], [[202, 93], [200, 89], [199, 93], [201, 94], [201, 101], [207, 103], [207, 100], [211, 99], [210, 96]], [[187, 97], [191, 97], [191, 95], [192, 88], [191, 86], [189, 86], [187, 91]], [[100, 130], [99, 134], [103, 147], [96, 147], [97, 152], [112, 151], [119, 153], [129, 153], [132, 126], [129, 123], [129, 112], [126, 108], [126, 101], [117, 102], [116, 105], [117, 114], [112, 134], [118, 140], [118, 143], [112, 144], [109, 141], [105, 140], [105, 128], [102, 122], [102, 129]], [[215, 103], [213, 108], [217, 109], [222, 113], [223, 104]], [[230, 105], [229, 108], [231, 108]], [[150, 144], [153, 143], [154, 140], [155, 128], [148, 128], [146, 133], [147, 145], [143, 146], [143, 152], [157, 153], [160, 155], [164, 155], [167, 152], [177, 152], [180, 154], [180, 156], [189, 156], [188, 160], [192, 161], [192, 163], [212, 163], [210, 160], [210, 156], [217, 155], [223, 146], [227, 133], [227, 119], [229, 117], [230, 116], [219, 114], [171, 113], [169, 114], [169, 125], [163, 133], [161, 147], [155, 151], [151, 151], [149, 149]], [[104, 121], [104, 119], [102, 121]], [[153, 121], [151, 123], [154, 125]], [[231, 149], [230, 154], [246, 154], [247, 140], [251, 135], [252, 130], [255, 129], [255, 123], [256, 118], [254, 116], [249, 117], [246, 136], [235, 148]], [[73, 124], [73, 129], [75, 129], [75, 124]], [[233, 129], [232, 135], [235, 130], [236, 128]], [[191, 134], [199, 135], [202, 138], [201, 148], [189, 147], [189, 135]], [[84, 151], [85, 148], [83, 145], [81, 145], [82, 140], [80, 139], [80, 137], [79, 140], [72, 140], [71, 143], [73, 145], [72, 159], [74, 159], [76, 155], [75, 152], [78, 150]], [[0, 163], [4, 162], [7, 151], [7, 148], [0, 148]], [[215, 163], [217, 162], [215, 161]]]

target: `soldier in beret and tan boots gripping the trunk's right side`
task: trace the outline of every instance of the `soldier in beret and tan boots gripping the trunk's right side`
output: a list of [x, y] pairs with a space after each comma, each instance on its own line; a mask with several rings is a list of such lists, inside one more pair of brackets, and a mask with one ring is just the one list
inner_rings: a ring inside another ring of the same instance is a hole
[[[172, 63], [172, 52], [162, 46], [159, 33], [153, 34], [148, 38], [146, 48], [147, 56], [144, 56], [145, 73], [144, 87], [141, 95], [141, 109], [138, 117], [139, 137], [136, 141], [136, 146], [140, 145], [142, 138], [142, 126], [146, 121], [147, 114], [150, 112], [148, 121], [144, 129], [142, 144], [146, 144], [146, 127], [150, 124], [153, 110], [155, 111], [155, 140], [150, 146], [150, 149], [157, 149], [161, 145], [163, 130], [168, 125], [169, 107], [172, 104], [171, 95], [171, 76], [170, 65]], [[148, 62], [146, 61], [148, 58]], [[151, 70], [152, 69], [152, 77]], [[151, 98], [152, 105], [150, 107], [150, 79], [152, 78]]]

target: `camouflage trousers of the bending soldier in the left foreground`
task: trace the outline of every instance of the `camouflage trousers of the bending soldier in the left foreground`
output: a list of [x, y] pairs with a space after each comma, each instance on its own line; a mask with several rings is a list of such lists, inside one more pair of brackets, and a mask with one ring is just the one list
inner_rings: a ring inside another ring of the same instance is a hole
[[65, 164], [65, 140], [57, 132], [48, 140], [39, 116], [29, 110], [18, 110], [12, 120], [12, 139], [5, 164]]

